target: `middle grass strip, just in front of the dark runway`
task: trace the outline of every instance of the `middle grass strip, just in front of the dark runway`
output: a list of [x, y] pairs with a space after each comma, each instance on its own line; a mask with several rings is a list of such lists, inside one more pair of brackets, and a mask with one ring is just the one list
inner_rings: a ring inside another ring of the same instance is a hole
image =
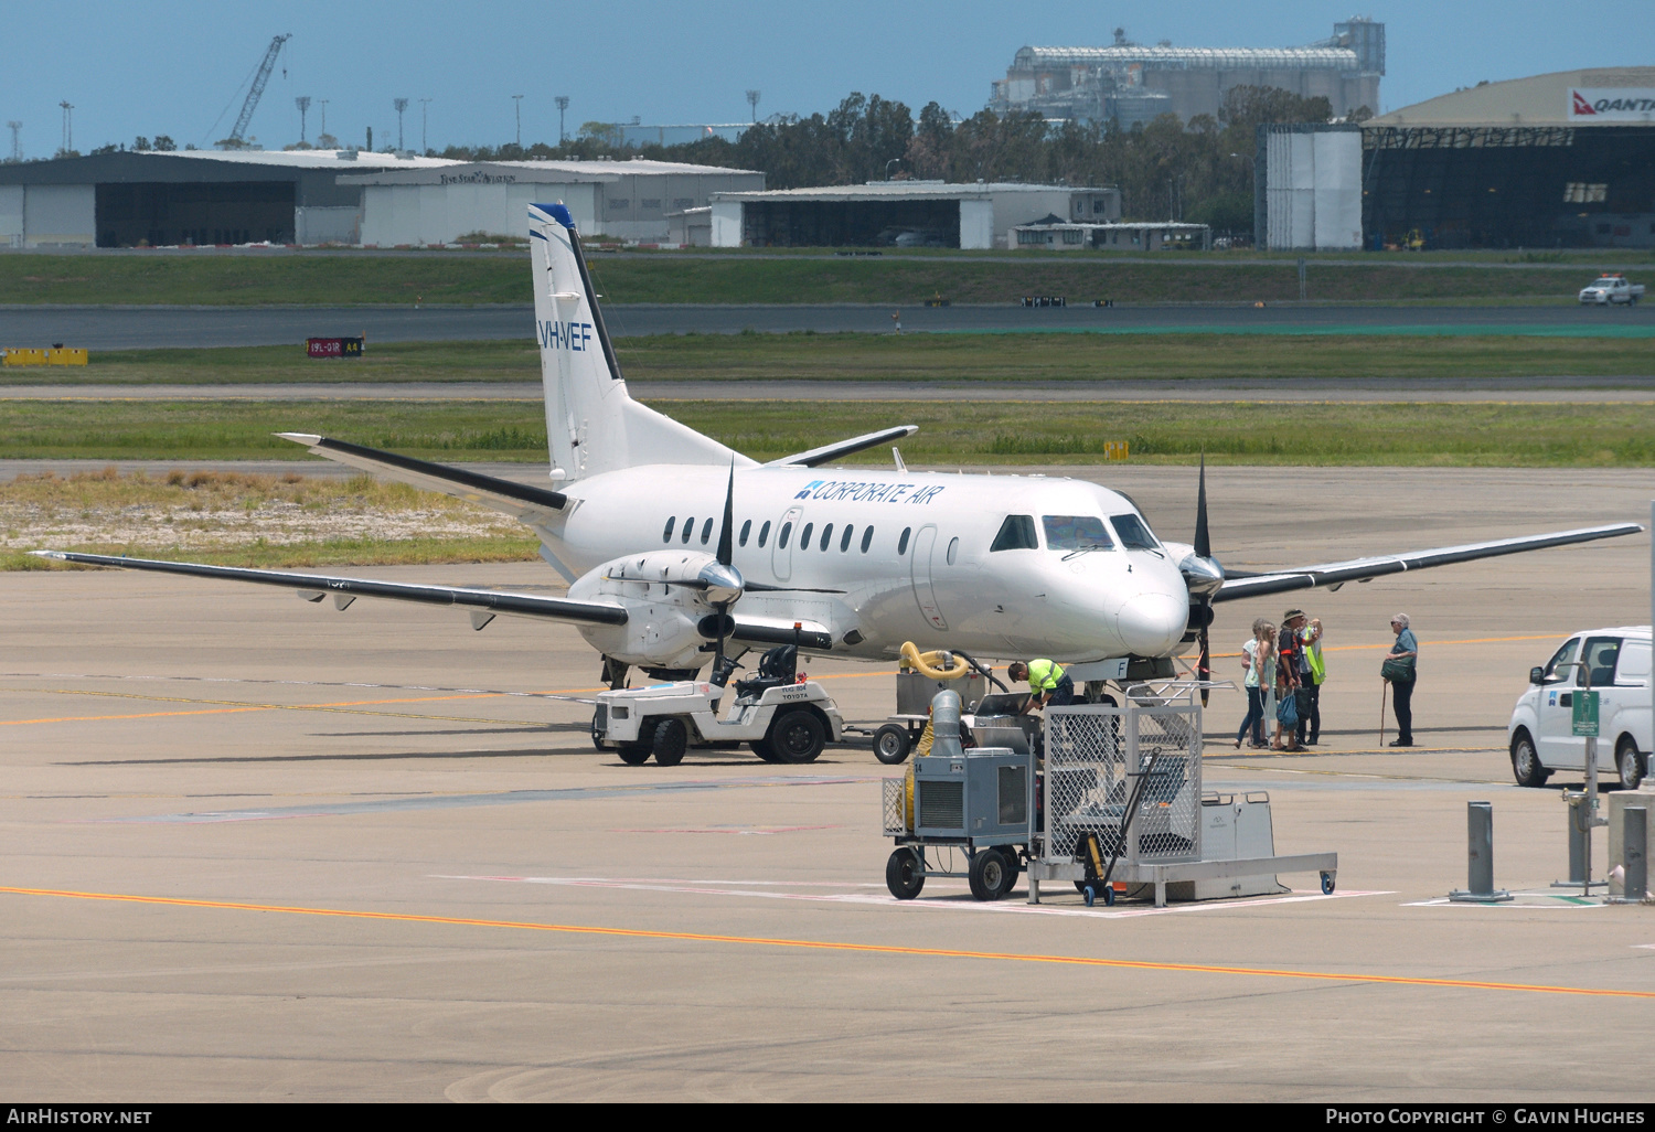
[[[1614, 328], [1610, 328], [1614, 329]], [[1640, 328], [1655, 331], [1655, 328]], [[1183, 381], [1624, 377], [1655, 374], [1632, 338], [1408, 334], [662, 334], [622, 338], [636, 381]], [[530, 341], [397, 343], [311, 361], [298, 346], [94, 353], [81, 367], [0, 367], [0, 384], [538, 382]], [[535, 396], [525, 387], [525, 396]]]

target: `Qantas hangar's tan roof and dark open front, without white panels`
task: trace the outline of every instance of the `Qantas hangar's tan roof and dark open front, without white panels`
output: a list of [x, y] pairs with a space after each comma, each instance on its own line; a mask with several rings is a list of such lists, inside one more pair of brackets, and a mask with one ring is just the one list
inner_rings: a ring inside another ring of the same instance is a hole
[[1362, 122], [1369, 248], [1655, 247], [1655, 66], [1478, 84]]

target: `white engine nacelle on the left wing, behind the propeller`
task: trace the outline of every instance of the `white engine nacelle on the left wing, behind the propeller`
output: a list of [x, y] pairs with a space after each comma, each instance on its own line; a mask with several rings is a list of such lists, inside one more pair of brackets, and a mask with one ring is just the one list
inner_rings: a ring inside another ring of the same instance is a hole
[[713, 554], [660, 549], [596, 566], [569, 586], [569, 597], [626, 607], [624, 626], [581, 626], [606, 657], [640, 669], [698, 669], [717, 636], [717, 614], [741, 596], [741, 573]]

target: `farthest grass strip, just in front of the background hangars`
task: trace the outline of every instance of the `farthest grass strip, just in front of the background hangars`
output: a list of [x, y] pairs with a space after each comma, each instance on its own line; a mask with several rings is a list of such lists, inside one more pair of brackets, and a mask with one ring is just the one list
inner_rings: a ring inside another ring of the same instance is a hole
[[[1536, 301], [1569, 300], [1592, 268], [1537, 263], [1432, 266], [1372, 253], [1372, 265], [1311, 260], [1314, 300]], [[1026, 257], [1023, 260], [1021, 257]], [[1200, 257], [1200, 258], [1195, 258]], [[1617, 258], [1622, 253], [1617, 250]], [[1011, 260], [1011, 261], [1008, 261]], [[1221, 265], [1221, 266], [1208, 266]], [[1165, 301], [1283, 301], [1299, 298], [1293, 260], [1233, 253], [1167, 253], [1129, 261], [1109, 253], [970, 253], [846, 258], [594, 257], [594, 280], [611, 303], [907, 303], [942, 295], [955, 303], [1006, 303], [1021, 295]], [[498, 257], [396, 255], [10, 255], [0, 257], [0, 303], [285, 303], [414, 305], [528, 303], [523, 253]]]

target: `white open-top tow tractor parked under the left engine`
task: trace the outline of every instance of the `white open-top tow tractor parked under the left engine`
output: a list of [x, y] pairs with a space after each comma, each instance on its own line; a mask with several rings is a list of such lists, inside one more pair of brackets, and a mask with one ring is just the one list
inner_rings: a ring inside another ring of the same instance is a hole
[[[746, 743], [766, 763], [814, 763], [829, 741], [844, 738], [839, 707], [814, 680], [798, 682], [793, 645], [765, 654], [751, 680], [736, 680], [723, 718], [725, 687], [713, 680], [675, 680], [597, 695], [592, 743], [637, 766], [650, 755], [675, 766], [690, 746], [735, 748]], [[715, 677], [727, 675], [715, 667]]]

